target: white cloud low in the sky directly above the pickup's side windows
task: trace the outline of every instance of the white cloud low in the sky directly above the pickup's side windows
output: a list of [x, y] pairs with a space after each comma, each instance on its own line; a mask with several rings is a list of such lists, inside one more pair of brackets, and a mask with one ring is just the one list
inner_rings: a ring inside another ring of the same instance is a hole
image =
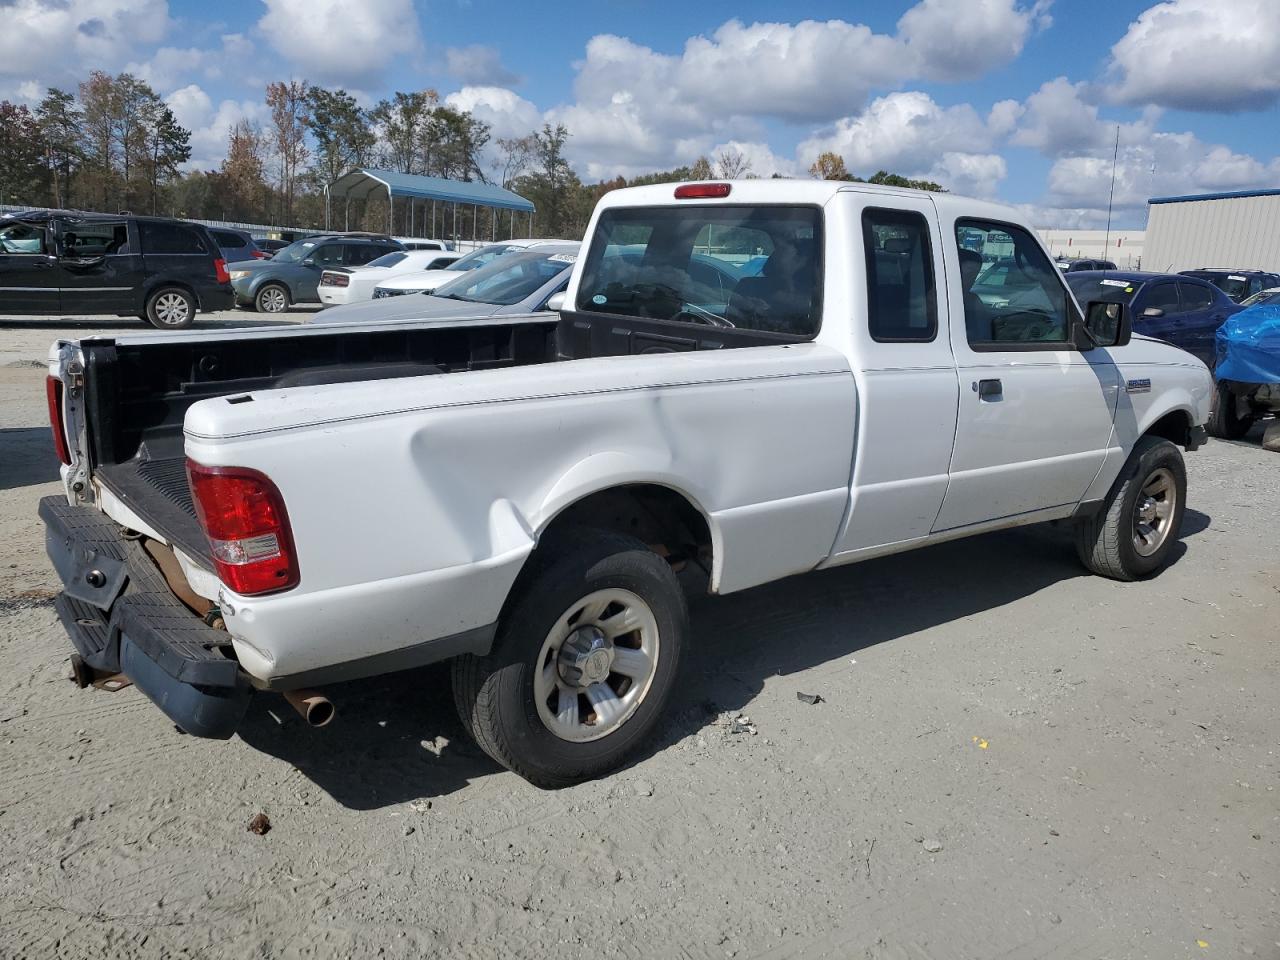
[[1007, 113], [993, 111], [993, 131], [969, 104], [943, 108], [919, 91], [890, 93], [801, 142], [796, 156], [808, 168], [818, 154], [831, 150], [845, 157], [850, 173], [861, 177], [890, 170], [938, 180], [957, 192], [991, 195], [1006, 174], [1004, 159], [992, 148]]

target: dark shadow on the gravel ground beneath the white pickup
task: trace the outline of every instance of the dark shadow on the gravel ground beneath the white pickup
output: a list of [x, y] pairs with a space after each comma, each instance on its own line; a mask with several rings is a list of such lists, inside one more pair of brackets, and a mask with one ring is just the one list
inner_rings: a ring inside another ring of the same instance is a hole
[[[1187, 511], [1181, 536], [1210, 517]], [[1185, 553], [1178, 543], [1172, 562]], [[957, 571], [966, 571], [957, 573]], [[668, 719], [634, 760], [746, 708], [767, 678], [900, 640], [1088, 576], [1062, 527], [956, 540], [692, 604], [691, 643]], [[360, 810], [444, 796], [499, 772], [462, 730], [444, 666], [326, 687], [338, 718], [308, 728], [283, 699], [256, 698], [239, 736]]]

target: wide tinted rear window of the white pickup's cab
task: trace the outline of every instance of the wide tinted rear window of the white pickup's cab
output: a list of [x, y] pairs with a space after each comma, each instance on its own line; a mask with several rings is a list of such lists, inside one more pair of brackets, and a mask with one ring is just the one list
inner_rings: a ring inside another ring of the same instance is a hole
[[820, 230], [822, 212], [810, 206], [605, 210], [576, 306], [809, 339], [820, 319]]

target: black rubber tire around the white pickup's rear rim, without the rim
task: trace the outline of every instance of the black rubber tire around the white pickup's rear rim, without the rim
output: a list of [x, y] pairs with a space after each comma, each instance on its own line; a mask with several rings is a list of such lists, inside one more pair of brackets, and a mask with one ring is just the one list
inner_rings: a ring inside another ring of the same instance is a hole
[[[493, 653], [454, 659], [453, 696], [481, 750], [530, 783], [556, 790], [617, 769], [653, 732], [675, 687], [689, 609], [671, 566], [630, 536], [576, 531], [539, 547], [530, 563], [507, 603]], [[652, 613], [657, 666], [639, 705], [612, 732], [571, 741], [539, 716], [534, 675], [564, 612], [609, 589], [635, 595]]]

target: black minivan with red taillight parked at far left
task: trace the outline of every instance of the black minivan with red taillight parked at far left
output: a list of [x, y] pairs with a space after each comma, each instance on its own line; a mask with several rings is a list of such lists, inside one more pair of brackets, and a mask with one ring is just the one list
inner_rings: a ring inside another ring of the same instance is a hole
[[0, 218], [0, 315], [115, 314], [163, 330], [228, 310], [230, 278], [200, 224], [159, 216]]

